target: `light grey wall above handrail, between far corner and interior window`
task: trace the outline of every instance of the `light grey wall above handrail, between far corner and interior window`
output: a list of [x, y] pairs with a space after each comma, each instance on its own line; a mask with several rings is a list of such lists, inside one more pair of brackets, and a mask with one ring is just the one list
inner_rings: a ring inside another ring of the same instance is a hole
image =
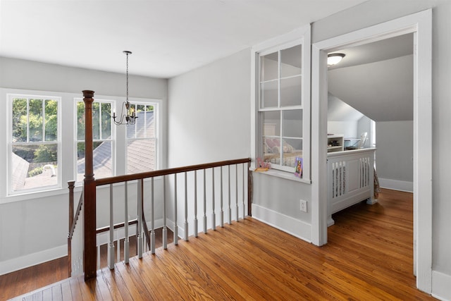
[[249, 49], [168, 83], [168, 166], [250, 156]]

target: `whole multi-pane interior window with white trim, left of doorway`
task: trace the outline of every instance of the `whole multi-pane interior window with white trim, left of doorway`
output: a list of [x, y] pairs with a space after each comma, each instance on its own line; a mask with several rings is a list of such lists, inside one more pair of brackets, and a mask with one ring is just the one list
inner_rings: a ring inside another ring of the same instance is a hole
[[[304, 47], [304, 45], [306, 45]], [[302, 181], [310, 178], [310, 27], [253, 47], [256, 158], [294, 173], [302, 158]], [[280, 175], [280, 173], [273, 173]], [[288, 175], [283, 175], [284, 177]]]

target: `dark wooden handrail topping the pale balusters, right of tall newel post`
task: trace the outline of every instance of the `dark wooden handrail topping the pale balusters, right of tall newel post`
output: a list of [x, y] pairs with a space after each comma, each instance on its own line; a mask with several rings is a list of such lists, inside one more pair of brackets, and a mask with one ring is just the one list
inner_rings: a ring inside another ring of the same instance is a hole
[[166, 176], [166, 175], [171, 175], [173, 173], [185, 173], [187, 171], [198, 171], [199, 169], [207, 169], [207, 168], [214, 168], [214, 167], [220, 167], [220, 166], [249, 163], [250, 161], [251, 161], [250, 158], [217, 161], [217, 162], [213, 162], [213, 163], [205, 163], [205, 164], [197, 164], [197, 165], [190, 165], [190, 166], [183, 166], [183, 167], [176, 167], [176, 168], [161, 169], [159, 171], [147, 171], [144, 173], [133, 173], [131, 175], [101, 178], [101, 179], [95, 180], [95, 183], [96, 183], [96, 186], [109, 185], [109, 184], [114, 184], [114, 183], [128, 182], [131, 180], [140, 180], [143, 178]]

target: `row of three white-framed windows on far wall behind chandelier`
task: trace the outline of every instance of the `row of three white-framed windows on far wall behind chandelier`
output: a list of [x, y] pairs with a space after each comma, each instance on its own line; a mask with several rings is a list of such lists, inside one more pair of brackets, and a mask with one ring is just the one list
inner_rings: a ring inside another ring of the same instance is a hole
[[[0, 87], [6, 127], [0, 131], [0, 204], [67, 193], [85, 176], [85, 103], [80, 93]], [[94, 95], [92, 131], [94, 178], [153, 171], [164, 167], [166, 135], [161, 99], [130, 98], [135, 125], [116, 126], [111, 111], [123, 97]]]

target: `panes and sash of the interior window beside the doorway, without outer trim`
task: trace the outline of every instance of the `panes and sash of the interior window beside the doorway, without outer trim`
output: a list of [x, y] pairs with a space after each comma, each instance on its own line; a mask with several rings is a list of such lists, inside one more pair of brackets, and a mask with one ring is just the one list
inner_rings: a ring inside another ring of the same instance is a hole
[[259, 119], [264, 161], [294, 171], [302, 157], [302, 44], [259, 54]]

